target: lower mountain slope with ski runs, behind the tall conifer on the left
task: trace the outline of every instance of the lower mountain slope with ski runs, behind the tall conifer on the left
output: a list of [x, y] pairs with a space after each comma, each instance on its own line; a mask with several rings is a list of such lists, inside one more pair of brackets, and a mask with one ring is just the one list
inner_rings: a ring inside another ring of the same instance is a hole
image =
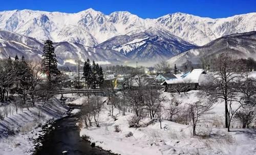
[[[54, 45], [58, 63], [76, 64], [78, 57], [81, 61], [87, 58], [101, 62], [120, 62], [128, 60], [124, 55], [113, 50], [102, 50], [83, 46], [73, 42], [55, 42]], [[0, 59], [14, 58], [17, 54], [26, 59], [41, 60], [44, 44], [34, 38], [26, 37], [14, 32], [0, 30]]]

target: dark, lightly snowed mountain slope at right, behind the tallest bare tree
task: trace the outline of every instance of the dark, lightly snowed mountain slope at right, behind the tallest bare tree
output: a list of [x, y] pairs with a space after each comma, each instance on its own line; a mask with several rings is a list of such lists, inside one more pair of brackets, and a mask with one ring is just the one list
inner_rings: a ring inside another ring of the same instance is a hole
[[189, 60], [193, 63], [200, 63], [200, 57], [214, 56], [223, 52], [228, 52], [237, 58], [255, 58], [256, 31], [223, 36], [205, 46], [191, 49], [172, 57], [167, 62], [181, 65], [186, 60]]

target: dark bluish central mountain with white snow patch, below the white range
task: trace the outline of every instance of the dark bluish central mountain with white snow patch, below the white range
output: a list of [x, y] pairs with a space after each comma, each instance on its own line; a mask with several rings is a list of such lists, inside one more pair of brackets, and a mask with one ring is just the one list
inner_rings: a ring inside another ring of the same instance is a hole
[[140, 33], [130, 32], [126, 35], [115, 36], [96, 47], [112, 49], [135, 60], [160, 61], [196, 46], [167, 31], [150, 28]]

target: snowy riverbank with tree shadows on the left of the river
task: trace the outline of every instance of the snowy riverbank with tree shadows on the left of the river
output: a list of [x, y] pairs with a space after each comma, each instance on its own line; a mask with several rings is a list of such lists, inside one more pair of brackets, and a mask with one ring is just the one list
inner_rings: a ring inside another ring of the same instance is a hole
[[[29, 110], [24, 108], [23, 112], [0, 121], [0, 154], [32, 154], [35, 145], [40, 145], [34, 144], [33, 141], [45, 134], [42, 128], [37, 126], [67, 116], [68, 110], [67, 106], [54, 98], [45, 104], [37, 103]], [[13, 131], [14, 135], [8, 131]]]

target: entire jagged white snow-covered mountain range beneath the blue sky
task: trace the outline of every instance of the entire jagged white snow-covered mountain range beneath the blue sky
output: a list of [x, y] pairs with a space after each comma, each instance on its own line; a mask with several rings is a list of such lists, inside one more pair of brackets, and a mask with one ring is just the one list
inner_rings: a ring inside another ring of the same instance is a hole
[[202, 46], [224, 35], [256, 30], [256, 13], [218, 19], [173, 13], [157, 19], [142, 19], [125, 11], [105, 15], [93, 9], [78, 13], [32, 10], [0, 12], [0, 29], [38, 40], [73, 41], [85, 46], [95, 46], [111, 37], [140, 33], [149, 28], [168, 31]]

